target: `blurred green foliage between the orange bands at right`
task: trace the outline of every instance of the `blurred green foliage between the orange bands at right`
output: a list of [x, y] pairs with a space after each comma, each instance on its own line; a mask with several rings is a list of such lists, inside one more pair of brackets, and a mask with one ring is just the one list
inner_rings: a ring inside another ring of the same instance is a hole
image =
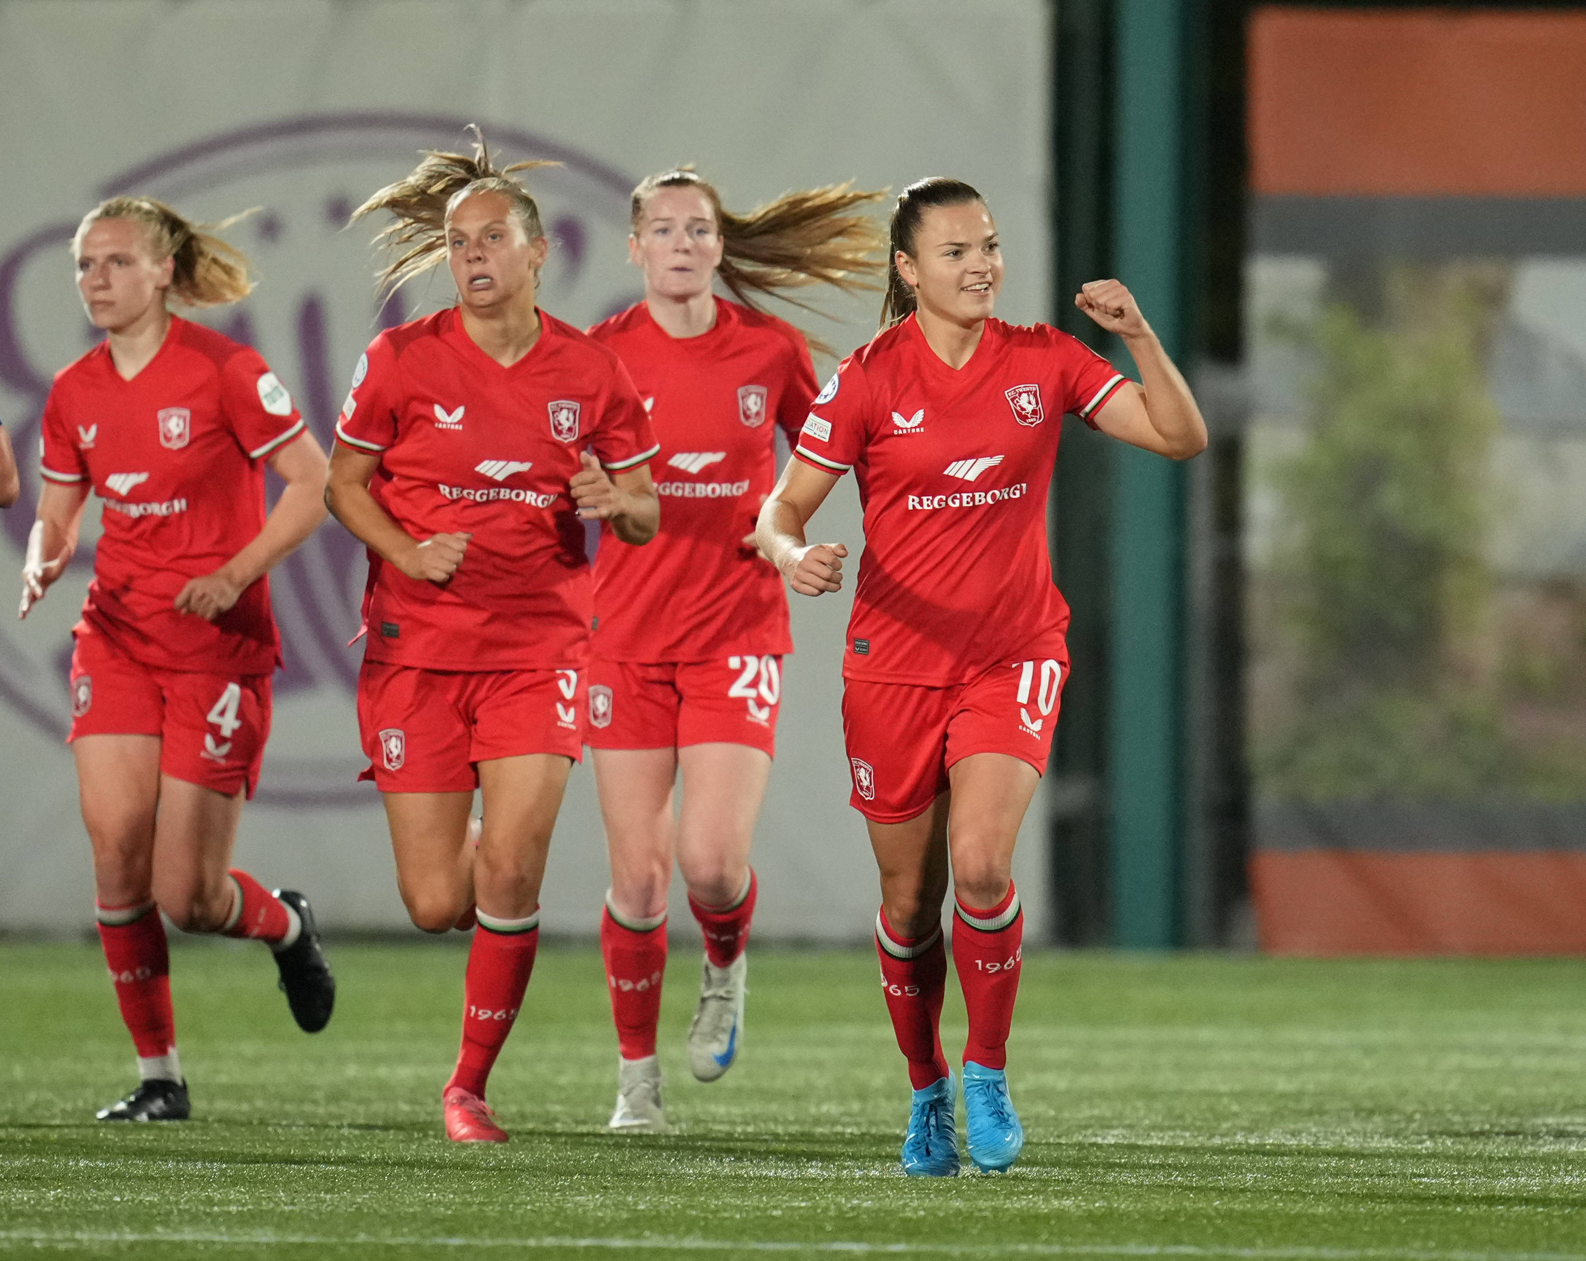
[[[1289, 707], [1256, 733], [1266, 796], [1580, 798], [1580, 750], [1521, 741], [1492, 669], [1483, 370], [1504, 273], [1394, 265], [1372, 317], [1334, 300], [1274, 332], [1313, 357], [1304, 449], [1275, 471], [1272, 577]], [[1513, 669], [1508, 671], [1513, 676]]]

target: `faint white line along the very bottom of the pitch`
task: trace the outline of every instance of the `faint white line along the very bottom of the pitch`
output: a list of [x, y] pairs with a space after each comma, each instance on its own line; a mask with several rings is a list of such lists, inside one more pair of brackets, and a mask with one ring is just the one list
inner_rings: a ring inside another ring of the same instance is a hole
[[374, 1247], [374, 1248], [584, 1248], [588, 1251], [698, 1251], [698, 1253], [834, 1253], [849, 1256], [1166, 1256], [1237, 1258], [1239, 1261], [1586, 1261], [1586, 1253], [1472, 1251], [1465, 1248], [1240, 1248], [1202, 1244], [864, 1244], [860, 1240], [715, 1240], [715, 1239], [580, 1239], [541, 1236], [479, 1239], [462, 1236], [346, 1237], [213, 1231], [0, 1231], [0, 1247], [81, 1247], [84, 1244], [205, 1244], [211, 1247]]

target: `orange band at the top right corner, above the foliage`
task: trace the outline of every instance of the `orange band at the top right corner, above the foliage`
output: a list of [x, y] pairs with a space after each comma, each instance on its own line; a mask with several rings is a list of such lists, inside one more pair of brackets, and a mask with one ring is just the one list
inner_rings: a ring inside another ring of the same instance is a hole
[[1258, 194], [1586, 197], [1586, 14], [1262, 8]]

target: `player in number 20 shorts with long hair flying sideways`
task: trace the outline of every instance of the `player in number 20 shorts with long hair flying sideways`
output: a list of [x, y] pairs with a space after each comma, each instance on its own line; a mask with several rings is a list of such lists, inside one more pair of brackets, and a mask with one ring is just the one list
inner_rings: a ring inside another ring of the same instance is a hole
[[[815, 397], [804, 336], [750, 293], [863, 284], [880, 238], [850, 211], [877, 197], [814, 189], [739, 216], [688, 168], [653, 174], [633, 190], [628, 238], [644, 301], [590, 330], [633, 373], [668, 471], [660, 538], [639, 550], [607, 531], [595, 562], [585, 739], [611, 852], [601, 953], [620, 1047], [612, 1129], [666, 1126], [655, 1025], [674, 853], [706, 950], [688, 1067], [714, 1082], [741, 1045], [749, 847], [793, 650], [782, 582], [752, 531], [776, 481], [776, 428], [791, 446]], [[717, 276], [741, 303], [714, 297]]]

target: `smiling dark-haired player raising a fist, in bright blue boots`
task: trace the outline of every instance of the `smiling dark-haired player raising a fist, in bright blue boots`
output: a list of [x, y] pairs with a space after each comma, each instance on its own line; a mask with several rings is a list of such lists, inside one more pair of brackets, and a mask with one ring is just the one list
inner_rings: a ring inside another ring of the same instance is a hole
[[1006, 1169], [1025, 1145], [1004, 1077], [1023, 937], [1010, 869], [1067, 673], [1069, 611], [1052, 585], [1045, 522], [1063, 414], [1177, 460], [1205, 447], [1205, 424], [1118, 281], [1086, 284], [1075, 303], [1123, 336], [1144, 389], [1066, 333], [991, 317], [1002, 254], [967, 184], [906, 189], [891, 260], [882, 332], [820, 392], [758, 538], [795, 592], [839, 590], [847, 549], [806, 544], [804, 527], [856, 471], [866, 550], [844, 655], [850, 799], [880, 868], [875, 947], [915, 1088], [902, 1164], [950, 1175], [958, 1134], [939, 1033], [948, 858], [969, 1156]]

